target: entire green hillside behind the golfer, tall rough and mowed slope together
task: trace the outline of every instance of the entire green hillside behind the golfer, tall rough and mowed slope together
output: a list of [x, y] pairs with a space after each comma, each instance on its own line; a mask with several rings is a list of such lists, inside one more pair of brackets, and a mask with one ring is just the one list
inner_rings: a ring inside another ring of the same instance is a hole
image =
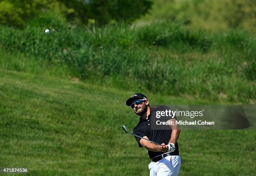
[[[46, 35], [44, 29], [51, 33]], [[129, 130], [151, 104], [254, 104], [255, 35], [159, 21], [0, 26], [0, 166], [31, 175], [148, 175]], [[182, 130], [180, 175], [254, 175], [256, 132]]]

